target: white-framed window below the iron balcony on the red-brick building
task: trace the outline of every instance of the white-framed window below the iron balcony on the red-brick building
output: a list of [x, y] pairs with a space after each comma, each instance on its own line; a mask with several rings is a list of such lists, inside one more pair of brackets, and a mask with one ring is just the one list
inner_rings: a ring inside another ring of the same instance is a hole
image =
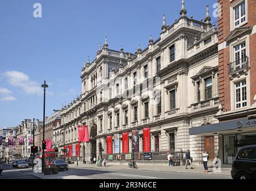
[[236, 109], [247, 106], [246, 81], [235, 84], [236, 91]]

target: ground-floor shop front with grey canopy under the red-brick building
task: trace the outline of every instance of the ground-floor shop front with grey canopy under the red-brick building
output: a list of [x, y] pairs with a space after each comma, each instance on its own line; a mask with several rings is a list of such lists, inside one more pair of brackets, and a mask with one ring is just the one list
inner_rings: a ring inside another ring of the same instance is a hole
[[233, 119], [218, 124], [190, 128], [190, 135], [218, 135], [218, 153], [222, 167], [230, 168], [243, 146], [256, 144], [256, 118]]

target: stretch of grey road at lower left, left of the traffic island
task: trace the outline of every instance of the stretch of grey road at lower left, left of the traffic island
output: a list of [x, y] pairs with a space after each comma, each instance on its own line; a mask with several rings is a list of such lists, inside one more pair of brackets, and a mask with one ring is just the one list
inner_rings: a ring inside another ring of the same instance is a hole
[[[30, 174], [26, 174], [23, 171], [26, 170], [17, 170], [16, 168], [11, 167], [10, 165], [3, 165], [4, 171], [0, 175], [0, 179], [38, 179]], [[32, 170], [32, 169], [31, 169]]]

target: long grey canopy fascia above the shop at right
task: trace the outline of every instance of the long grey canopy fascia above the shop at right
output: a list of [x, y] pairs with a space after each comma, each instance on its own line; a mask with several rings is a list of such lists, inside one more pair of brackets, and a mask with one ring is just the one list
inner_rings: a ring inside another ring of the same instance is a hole
[[203, 125], [200, 127], [192, 127], [190, 135], [203, 135], [212, 133], [223, 133], [231, 130], [245, 130], [246, 128], [256, 127], [256, 119], [242, 118], [231, 121], [220, 122], [218, 124]]

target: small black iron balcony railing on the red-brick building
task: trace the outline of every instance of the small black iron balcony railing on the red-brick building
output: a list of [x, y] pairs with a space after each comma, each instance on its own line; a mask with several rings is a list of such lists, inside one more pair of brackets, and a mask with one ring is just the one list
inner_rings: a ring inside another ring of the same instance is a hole
[[249, 58], [243, 57], [228, 64], [228, 75], [249, 69]]

